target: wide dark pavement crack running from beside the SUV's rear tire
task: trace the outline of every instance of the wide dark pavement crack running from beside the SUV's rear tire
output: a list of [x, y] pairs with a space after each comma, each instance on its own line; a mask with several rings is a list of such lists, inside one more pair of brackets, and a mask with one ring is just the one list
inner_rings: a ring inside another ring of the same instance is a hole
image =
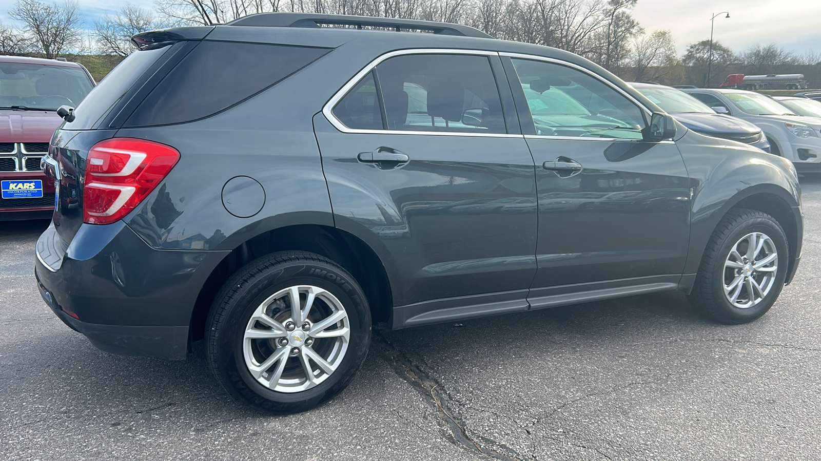
[[[460, 445], [475, 454], [484, 456], [485, 458], [501, 459], [503, 461], [519, 461], [522, 459], [522, 456], [519, 454], [510, 456], [488, 450], [480, 445], [476, 440], [471, 438], [467, 434], [466, 423], [457, 418], [451, 411], [450, 406], [452, 399], [450, 395], [447, 394], [447, 390], [445, 390], [442, 384], [436, 381], [436, 379], [431, 377], [428, 373], [422, 371], [422, 369], [418, 367], [407, 356], [407, 354], [402, 352], [400, 349], [397, 349], [395, 345], [392, 345], [392, 343], [383, 335], [379, 334], [378, 331], [376, 333], [376, 335], [372, 336], [373, 344], [376, 345], [383, 354], [392, 359], [394, 367], [401, 372], [401, 376], [405, 377], [407, 381], [410, 381], [410, 383], [420, 390], [421, 393], [430, 397], [433, 401], [433, 406], [436, 408], [439, 420], [443, 422], [445, 427], [447, 427], [449, 438], [453, 443]], [[513, 450], [509, 447], [502, 445], [495, 440], [482, 436], [479, 438], [489, 444], [502, 446], [513, 452]]]

